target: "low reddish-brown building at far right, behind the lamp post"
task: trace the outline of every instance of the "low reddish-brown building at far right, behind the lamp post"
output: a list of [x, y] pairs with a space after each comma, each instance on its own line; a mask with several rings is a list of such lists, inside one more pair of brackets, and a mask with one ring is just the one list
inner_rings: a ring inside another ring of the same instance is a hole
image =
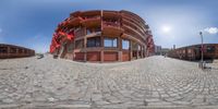
[[[218, 59], [218, 44], [204, 44], [204, 59]], [[182, 60], [199, 60], [202, 57], [202, 45], [193, 45], [170, 50], [168, 57]]]

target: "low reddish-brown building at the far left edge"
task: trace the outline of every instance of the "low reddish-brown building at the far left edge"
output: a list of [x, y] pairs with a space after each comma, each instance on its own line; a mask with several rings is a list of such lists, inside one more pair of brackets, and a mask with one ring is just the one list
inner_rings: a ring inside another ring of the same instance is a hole
[[28, 48], [0, 44], [0, 59], [23, 58], [35, 56], [35, 51]]

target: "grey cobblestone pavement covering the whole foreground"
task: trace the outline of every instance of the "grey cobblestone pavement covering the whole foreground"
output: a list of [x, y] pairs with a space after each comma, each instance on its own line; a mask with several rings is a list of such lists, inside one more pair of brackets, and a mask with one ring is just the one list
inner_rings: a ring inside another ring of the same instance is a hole
[[[81, 63], [62, 59], [0, 60], [0, 108], [215, 108], [218, 64], [164, 57]], [[218, 107], [217, 107], [218, 108]]]

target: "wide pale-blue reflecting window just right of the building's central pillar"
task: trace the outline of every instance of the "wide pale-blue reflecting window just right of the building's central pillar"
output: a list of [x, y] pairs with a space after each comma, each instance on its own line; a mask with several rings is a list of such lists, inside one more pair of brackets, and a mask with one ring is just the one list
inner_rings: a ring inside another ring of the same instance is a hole
[[106, 37], [104, 40], [104, 45], [105, 47], [118, 47], [118, 39]]

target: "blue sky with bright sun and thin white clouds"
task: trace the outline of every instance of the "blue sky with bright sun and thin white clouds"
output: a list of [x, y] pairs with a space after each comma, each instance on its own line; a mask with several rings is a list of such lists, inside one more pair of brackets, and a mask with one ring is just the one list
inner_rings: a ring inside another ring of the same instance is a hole
[[0, 44], [49, 51], [57, 25], [71, 12], [128, 10], [149, 25], [162, 48], [218, 44], [218, 0], [0, 0]]

